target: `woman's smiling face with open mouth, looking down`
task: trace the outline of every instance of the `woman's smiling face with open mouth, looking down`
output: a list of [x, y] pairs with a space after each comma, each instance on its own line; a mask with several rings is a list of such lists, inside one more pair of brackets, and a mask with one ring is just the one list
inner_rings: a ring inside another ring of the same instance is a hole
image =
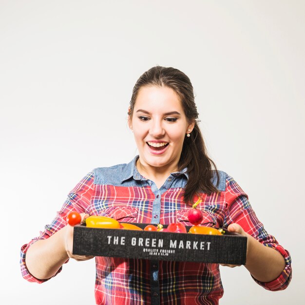
[[179, 95], [169, 87], [142, 87], [129, 124], [141, 165], [177, 170], [185, 135], [194, 127], [187, 121]]

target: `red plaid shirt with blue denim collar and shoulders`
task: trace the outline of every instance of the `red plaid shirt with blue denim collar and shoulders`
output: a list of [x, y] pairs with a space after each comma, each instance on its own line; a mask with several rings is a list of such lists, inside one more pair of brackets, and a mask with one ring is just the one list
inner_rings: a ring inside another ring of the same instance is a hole
[[[129, 164], [97, 168], [76, 185], [51, 225], [21, 248], [21, 272], [26, 280], [43, 282], [26, 268], [27, 249], [36, 240], [48, 238], [66, 226], [66, 216], [71, 210], [108, 216], [120, 222], [182, 222], [191, 225], [187, 218], [190, 207], [183, 202], [183, 190], [188, 179], [186, 169], [173, 172], [158, 189], [152, 181], [139, 174], [135, 167], [136, 158]], [[247, 194], [228, 174], [219, 171], [219, 175], [217, 188], [220, 192], [202, 194], [203, 201], [199, 206], [204, 214], [202, 225], [228, 227], [235, 222], [262, 244], [278, 250], [286, 261], [284, 271], [269, 283], [254, 280], [268, 290], [285, 289], [291, 280], [288, 251], [267, 234], [252, 210]], [[223, 295], [218, 264], [111, 257], [95, 257], [95, 263], [96, 304], [216, 305]]]

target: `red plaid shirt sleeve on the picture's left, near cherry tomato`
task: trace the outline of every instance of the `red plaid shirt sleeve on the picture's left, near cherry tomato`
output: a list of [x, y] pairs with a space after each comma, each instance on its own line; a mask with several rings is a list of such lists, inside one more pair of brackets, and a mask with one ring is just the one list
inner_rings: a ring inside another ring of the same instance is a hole
[[[43, 283], [47, 280], [39, 280], [35, 278], [27, 269], [25, 264], [25, 256], [28, 248], [40, 239], [47, 239], [52, 234], [57, 232], [59, 229], [67, 225], [66, 217], [67, 214], [76, 210], [79, 213], [89, 213], [90, 199], [94, 189], [93, 186], [94, 175], [93, 172], [88, 173], [69, 193], [67, 200], [63, 204], [62, 208], [57, 212], [56, 217], [53, 219], [50, 225], [46, 225], [44, 231], [40, 231], [40, 235], [32, 239], [28, 244], [25, 244], [21, 247], [20, 250], [20, 267], [21, 274], [24, 279], [29, 282]], [[58, 274], [61, 271], [61, 268], [57, 271]]]

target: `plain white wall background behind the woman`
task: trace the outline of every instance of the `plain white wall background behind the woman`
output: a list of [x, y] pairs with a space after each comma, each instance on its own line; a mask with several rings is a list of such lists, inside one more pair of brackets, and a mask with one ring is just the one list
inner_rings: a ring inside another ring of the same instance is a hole
[[133, 158], [132, 88], [158, 64], [191, 78], [211, 158], [291, 252], [285, 291], [221, 267], [220, 304], [301, 304], [304, 54], [303, 0], [0, 0], [0, 303], [94, 304], [93, 260], [38, 285], [19, 248], [87, 172]]

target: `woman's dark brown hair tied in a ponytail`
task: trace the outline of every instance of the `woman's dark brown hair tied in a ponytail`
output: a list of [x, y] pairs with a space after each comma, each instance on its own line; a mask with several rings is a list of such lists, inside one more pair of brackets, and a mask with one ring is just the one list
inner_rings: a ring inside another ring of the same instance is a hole
[[[208, 157], [206, 146], [198, 126], [198, 113], [195, 104], [191, 80], [183, 72], [174, 68], [156, 66], [146, 71], [137, 80], [133, 87], [130, 101], [130, 118], [139, 90], [144, 86], [158, 86], [172, 88], [180, 97], [181, 105], [189, 124], [195, 123], [190, 137], [185, 137], [183, 148], [178, 163], [178, 170], [188, 168], [189, 179], [184, 192], [184, 202], [191, 204], [194, 195], [200, 192], [212, 193], [217, 191], [212, 183], [213, 169], [218, 172], [215, 163]], [[217, 181], [218, 181], [217, 180]]]

